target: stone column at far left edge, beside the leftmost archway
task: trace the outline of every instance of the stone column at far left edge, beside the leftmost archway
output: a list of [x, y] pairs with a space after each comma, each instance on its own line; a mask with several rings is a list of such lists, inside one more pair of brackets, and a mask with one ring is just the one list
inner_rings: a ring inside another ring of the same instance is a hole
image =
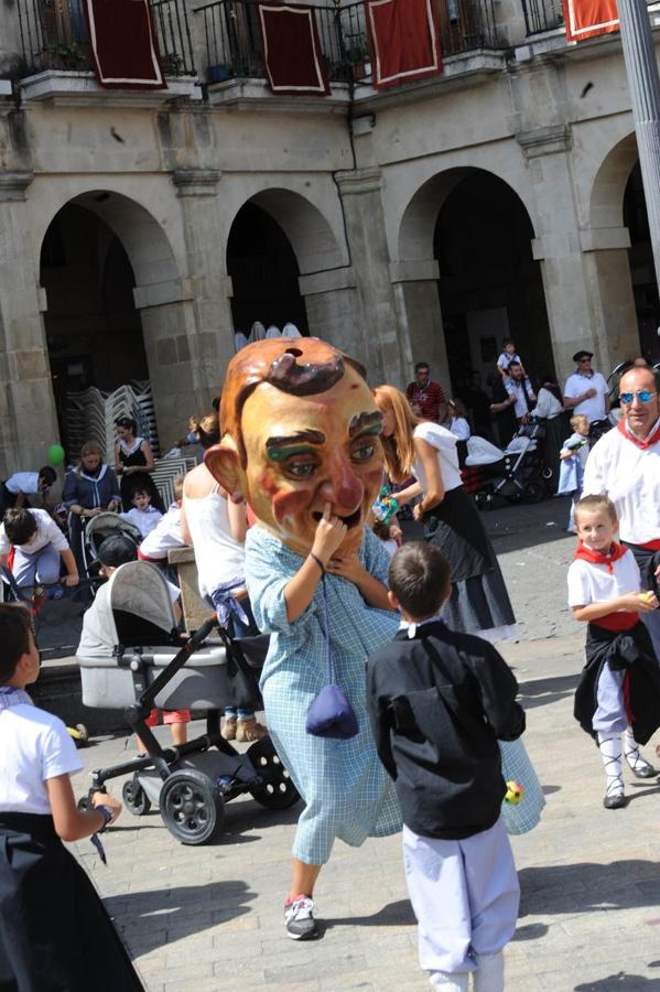
[[0, 171], [0, 477], [45, 462], [59, 431], [24, 202], [30, 171]]

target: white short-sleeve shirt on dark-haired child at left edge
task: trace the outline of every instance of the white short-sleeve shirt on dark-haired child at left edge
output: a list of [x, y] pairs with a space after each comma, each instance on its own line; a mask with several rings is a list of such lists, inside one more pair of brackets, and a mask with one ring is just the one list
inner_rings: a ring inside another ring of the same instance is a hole
[[51, 812], [45, 781], [83, 762], [62, 720], [20, 703], [0, 711], [0, 812]]

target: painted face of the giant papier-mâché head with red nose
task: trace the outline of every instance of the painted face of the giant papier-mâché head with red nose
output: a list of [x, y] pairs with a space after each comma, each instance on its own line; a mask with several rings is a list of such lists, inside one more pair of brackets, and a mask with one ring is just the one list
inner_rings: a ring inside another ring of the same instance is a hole
[[246, 400], [241, 486], [259, 521], [289, 548], [312, 548], [326, 503], [347, 525], [337, 551], [357, 551], [382, 483], [381, 414], [350, 366], [328, 390], [291, 396], [262, 382]]

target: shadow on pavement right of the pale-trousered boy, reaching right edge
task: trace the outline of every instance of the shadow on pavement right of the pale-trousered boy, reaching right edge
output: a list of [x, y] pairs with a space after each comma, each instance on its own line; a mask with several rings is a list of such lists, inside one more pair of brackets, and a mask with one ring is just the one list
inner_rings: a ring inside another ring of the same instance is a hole
[[[653, 790], [654, 791], [654, 790]], [[648, 906], [658, 909], [660, 865], [652, 861], [624, 860], [612, 864], [549, 865], [522, 869], [520, 917], [567, 913], [603, 913]], [[614, 924], [614, 919], [609, 920]]]

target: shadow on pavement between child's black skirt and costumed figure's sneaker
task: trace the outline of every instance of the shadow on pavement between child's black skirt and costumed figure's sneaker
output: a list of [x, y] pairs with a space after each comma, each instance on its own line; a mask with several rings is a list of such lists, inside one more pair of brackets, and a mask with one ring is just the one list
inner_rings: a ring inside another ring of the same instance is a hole
[[108, 896], [104, 904], [136, 958], [163, 947], [175, 935], [197, 934], [244, 916], [256, 897], [246, 882], [208, 882]]

